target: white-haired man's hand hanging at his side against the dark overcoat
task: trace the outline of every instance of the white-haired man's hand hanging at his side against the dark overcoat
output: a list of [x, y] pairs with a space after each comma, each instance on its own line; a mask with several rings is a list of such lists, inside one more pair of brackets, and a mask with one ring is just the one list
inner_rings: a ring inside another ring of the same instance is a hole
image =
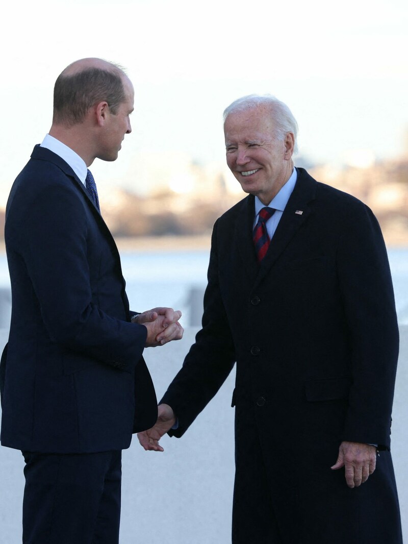
[[360, 442], [342, 442], [338, 450], [333, 471], [345, 467], [345, 480], [351, 488], [358, 487], [368, 480], [375, 471], [375, 446]]

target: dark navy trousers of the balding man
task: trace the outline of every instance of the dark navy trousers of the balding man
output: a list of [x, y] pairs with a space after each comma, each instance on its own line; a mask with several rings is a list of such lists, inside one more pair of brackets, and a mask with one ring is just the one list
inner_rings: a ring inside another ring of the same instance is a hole
[[23, 544], [118, 544], [121, 451], [22, 453]]

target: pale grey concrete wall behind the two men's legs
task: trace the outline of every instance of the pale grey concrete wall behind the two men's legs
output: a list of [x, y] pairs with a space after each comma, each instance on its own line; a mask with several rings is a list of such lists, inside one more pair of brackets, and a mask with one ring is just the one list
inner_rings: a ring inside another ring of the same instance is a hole
[[[147, 349], [145, 356], [160, 398], [194, 341]], [[401, 351], [395, 389], [392, 452], [403, 532], [408, 542], [408, 326], [400, 327]], [[0, 345], [7, 330], [0, 331]], [[227, 544], [231, 541], [234, 473], [234, 376], [180, 440], [163, 438], [164, 453], [145, 452], [135, 438], [123, 452], [121, 544]], [[333, 461], [334, 462], [334, 461]], [[21, 542], [23, 459], [0, 448], [0, 544]]]

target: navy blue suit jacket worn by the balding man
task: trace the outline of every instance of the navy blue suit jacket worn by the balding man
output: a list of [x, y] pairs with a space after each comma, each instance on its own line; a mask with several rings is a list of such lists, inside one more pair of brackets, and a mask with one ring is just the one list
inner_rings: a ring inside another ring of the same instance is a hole
[[5, 222], [12, 315], [1, 369], [3, 446], [89, 453], [127, 448], [157, 417], [129, 322], [120, 258], [83, 183], [34, 148]]

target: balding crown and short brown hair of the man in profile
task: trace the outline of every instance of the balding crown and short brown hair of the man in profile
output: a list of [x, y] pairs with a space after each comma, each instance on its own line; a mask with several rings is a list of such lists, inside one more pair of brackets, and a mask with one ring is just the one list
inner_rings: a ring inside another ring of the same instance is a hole
[[102, 101], [115, 114], [125, 100], [125, 79], [122, 68], [106, 60], [76, 60], [55, 82], [53, 124], [71, 127], [82, 123], [89, 109]]

